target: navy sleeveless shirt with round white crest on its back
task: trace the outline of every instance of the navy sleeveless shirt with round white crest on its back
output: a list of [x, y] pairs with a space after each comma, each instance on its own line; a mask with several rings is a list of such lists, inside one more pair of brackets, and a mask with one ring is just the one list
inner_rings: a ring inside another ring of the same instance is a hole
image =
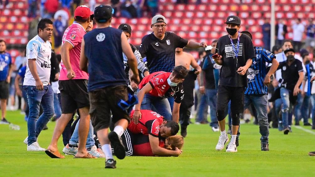
[[84, 52], [89, 63], [88, 91], [127, 85], [121, 34], [121, 30], [106, 27], [96, 28], [83, 36]]

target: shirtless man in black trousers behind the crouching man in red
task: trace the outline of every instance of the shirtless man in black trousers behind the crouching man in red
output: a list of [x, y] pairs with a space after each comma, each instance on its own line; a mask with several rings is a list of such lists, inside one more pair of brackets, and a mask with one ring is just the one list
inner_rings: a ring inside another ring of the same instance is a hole
[[190, 113], [192, 110], [192, 105], [194, 104], [193, 89], [195, 87], [195, 80], [197, 78], [197, 75], [201, 72], [201, 67], [197, 64], [195, 58], [191, 54], [183, 52], [182, 48], [176, 48], [175, 66], [179, 65], [185, 66], [188, 70], [190, 70], [191, 66], [192, 68], [194, 68], [194, 70], [189, 71], [183, 82], [185, 95], [179, 110], [180, 135], [186, 137]]

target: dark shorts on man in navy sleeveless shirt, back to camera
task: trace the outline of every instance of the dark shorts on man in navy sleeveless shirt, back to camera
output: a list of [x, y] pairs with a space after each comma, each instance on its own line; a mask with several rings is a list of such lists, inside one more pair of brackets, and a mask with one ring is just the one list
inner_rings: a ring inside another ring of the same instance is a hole
[[109, 127], [111, 112], [113, 124], [120, 119], [127, 119], [130, 122], [127, 111], [118, 106], [120, 100], [128, 101], [126, 85], [100, 88], [90, 91], [89, 96], [90, 116], [95, 131]]

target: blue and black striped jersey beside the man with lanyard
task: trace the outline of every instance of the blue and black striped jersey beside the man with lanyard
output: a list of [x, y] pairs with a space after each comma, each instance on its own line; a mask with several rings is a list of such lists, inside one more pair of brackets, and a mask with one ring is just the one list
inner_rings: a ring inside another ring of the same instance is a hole
[[266, 62], [272, 63], [276, 58], [273, 53], [261, 47], [254, 47], [256, 57], [253, 58], [253, 63], [247, 70], [248, 87], [245, 90], [245, 95], [267, 95], [268, 87], [264, 84], [266, 77]]

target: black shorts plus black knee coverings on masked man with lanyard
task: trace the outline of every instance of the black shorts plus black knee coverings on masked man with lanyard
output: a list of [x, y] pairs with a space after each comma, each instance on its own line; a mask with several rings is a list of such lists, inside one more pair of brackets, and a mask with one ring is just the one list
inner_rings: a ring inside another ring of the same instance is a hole
[[219, 86], [217, 95], [216, 114], [218, 121], [225, 119], [225, 109], [231, 100], [232, 125], [239, 125], [244, 112], [245, 87]]

